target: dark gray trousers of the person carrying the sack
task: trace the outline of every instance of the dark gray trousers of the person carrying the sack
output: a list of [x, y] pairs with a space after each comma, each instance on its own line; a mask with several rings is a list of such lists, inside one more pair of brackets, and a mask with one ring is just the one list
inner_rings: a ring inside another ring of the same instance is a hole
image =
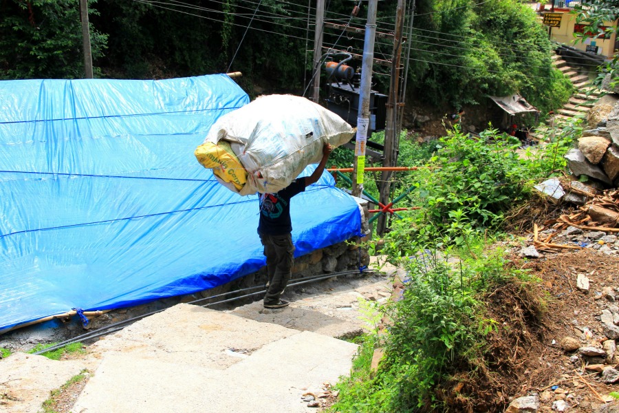
[[264, 296], [264, 304], [277, 304], [292, 276], [294, 245], [292, 235], [266, 235], [259, 233], [267, 258], [269, 286]]

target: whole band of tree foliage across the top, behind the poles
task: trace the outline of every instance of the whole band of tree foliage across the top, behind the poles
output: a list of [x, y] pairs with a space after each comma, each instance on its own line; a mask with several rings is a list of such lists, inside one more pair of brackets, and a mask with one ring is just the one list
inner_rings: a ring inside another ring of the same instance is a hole
[[[363, 28], [366, 4], [329, 1], [326, 20]], [[352, 16], [355, 5], [360, 12]], [[379, 32], [393, 32], [396, 6], [396, 0], [378, 3]], [[0, 9], [2, 78], [82, 76], [78, 0], [0, 0]], [[91, 0], [89, 11], [94, 63], [104, 77], [241, 71], [241, 85], [250, 94], [254, 84], [303, 94], [312, 78], [311, 2]], [[325, 48], [360, 56], [363, 42], [362, 32], [324, 29]], [[543, 26], [519, 1], [419, 0], [407, 43], [409, 89], [434, 105], [459, 107], [519, 92], [545, 109], [569, 93], [552, 70]], [[377, 37], [376, 58], [391, 59], [392, 49], [388, 36]], [[351, 65], [359, 67], [360, 59]], [[387, 92], [389, 67], [373, 70], [373, 87]]]

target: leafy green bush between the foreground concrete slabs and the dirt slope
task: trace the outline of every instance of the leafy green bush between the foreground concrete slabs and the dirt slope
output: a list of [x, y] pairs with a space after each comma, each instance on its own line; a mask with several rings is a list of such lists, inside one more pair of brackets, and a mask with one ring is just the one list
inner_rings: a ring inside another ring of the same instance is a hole
[[[440, 410], [439, 383], [458, 368], [479, 362], [484, 338], [496, 322], [484, 317], [479, 296], [488, 286], [516, 277], [503, 251], [482, 255], [486, 245], [471, 238], [478, 258], [448, 260], [448, 254], [419, 250], [400, 260], [406, 269], [400, 301], [384, 306], [391, 324], [384, 335], [367, 337], [350, 378], [337, 386], [334, 412], [412, 412]], [[370, 369], [373, 349], [384, 348], [376, 372]]]

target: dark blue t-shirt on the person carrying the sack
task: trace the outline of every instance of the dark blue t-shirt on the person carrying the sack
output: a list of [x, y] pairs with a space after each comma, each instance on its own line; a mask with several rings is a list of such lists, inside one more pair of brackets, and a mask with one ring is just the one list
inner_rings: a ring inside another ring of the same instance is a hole
[[277, 193], [261, 193], [258, 232], [265, 235], [291, 233], [290, 198], [303, 191], [305, 178], [298, 178]]

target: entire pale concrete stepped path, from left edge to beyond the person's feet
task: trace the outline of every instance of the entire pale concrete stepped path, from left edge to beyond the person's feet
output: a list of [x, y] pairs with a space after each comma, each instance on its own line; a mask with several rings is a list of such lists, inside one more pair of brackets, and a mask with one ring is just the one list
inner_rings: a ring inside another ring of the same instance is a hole
[[301, 395], [349, 374], [357, 348], [334, 337], [367, 330], [360, 299], [386, 302], [392, 276], [404, 278], [400, 268], [382, 269], [387, 275], [287, 288], [290, 306], [279, 310], [261, 301], [232, 312], [179, 304], [100, 338], [75, 360], [12, 354], [0, 360], [0, 392], [9, 396], [0, 405], [39, 412], [86, 368], [93, 374], [73, 412], [316, 412]]

